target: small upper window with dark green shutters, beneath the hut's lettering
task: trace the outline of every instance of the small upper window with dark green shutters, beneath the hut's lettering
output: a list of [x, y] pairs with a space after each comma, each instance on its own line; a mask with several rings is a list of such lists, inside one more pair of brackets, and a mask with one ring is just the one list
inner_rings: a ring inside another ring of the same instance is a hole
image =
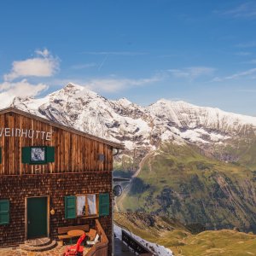
[[22, 163], [42, 165], [55, 161], [55, 147], [24, 147]]

